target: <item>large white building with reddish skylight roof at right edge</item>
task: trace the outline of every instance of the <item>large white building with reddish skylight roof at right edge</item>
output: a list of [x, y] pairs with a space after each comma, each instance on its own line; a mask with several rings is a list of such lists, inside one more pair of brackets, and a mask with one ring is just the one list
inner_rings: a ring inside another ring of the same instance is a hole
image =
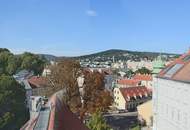
[[153, 130], [190, 129], [190, 51], [154, 78]]

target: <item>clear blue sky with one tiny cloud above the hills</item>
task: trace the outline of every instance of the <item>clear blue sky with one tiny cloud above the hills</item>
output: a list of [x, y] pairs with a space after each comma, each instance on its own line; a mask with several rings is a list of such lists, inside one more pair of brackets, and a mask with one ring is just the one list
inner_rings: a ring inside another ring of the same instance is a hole
[[107, 49], [184, 53], [189, 0], [0, 0], [0, 47], [83, 55]]

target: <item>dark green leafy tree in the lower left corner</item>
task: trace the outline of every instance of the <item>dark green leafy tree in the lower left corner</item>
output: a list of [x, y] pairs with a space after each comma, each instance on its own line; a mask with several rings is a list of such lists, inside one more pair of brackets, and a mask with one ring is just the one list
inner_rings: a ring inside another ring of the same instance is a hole
[[27, 117], [24, 88], [12, 77], [0, 76], [0, 129], [19, 129]]

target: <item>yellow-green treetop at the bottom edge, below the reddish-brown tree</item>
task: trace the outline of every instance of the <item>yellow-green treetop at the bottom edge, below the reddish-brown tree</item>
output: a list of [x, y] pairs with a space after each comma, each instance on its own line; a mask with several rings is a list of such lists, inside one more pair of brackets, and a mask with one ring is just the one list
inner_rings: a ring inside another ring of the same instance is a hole
[[92, 114], [89, 122], [87, 123], [87, 127], [90, 130], [112, 130], [107, 124], [105, 119], [103, 118], [101, 112], [95, 112]]

